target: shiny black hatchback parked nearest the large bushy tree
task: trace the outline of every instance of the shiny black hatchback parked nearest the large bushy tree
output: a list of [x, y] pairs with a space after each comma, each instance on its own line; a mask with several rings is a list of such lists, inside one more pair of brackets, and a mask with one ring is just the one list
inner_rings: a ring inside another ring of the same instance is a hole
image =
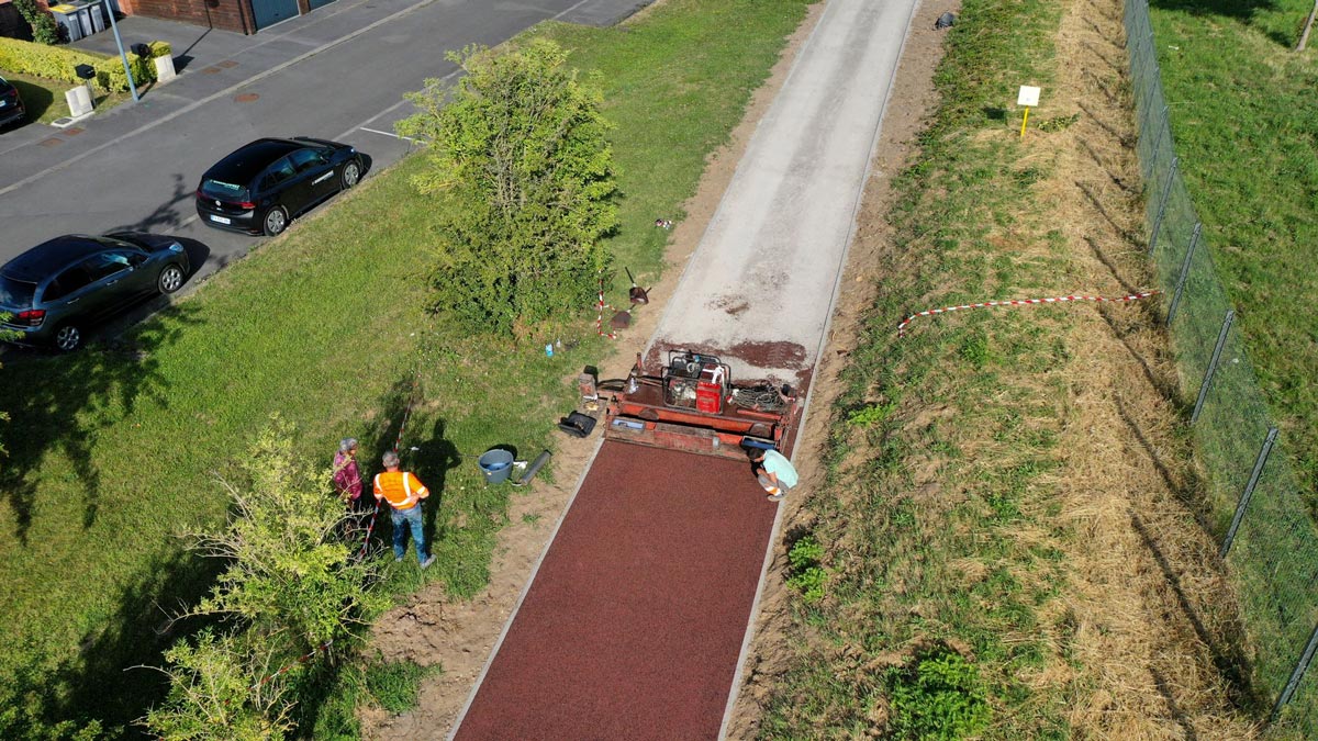
[[261, 138], [220, 160], [196, 187], [211, 227], [274, 236], [322, 200], [357, 185], [361, 154], [322, 138]]

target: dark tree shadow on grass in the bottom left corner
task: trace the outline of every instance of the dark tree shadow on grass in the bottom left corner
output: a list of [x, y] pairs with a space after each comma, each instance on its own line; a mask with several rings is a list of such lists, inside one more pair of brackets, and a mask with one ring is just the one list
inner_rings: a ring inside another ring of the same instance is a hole
[[[163, 700], [169, 682], [149, 667], [165, 665], [163, 653], [178, 638], [198, 630], [202, 620], [171, 622], [169, 613], [179, 604], [196, 604], [215, 581], [224, 564], [178, 550], [144, 564], [140, 575], [120, 591], [115, 613], [107, 625], [84, 636], [76, 655], [54, 667], [37, 651], [7, 667], [16, 687], [0, 690], [0, 701], [12, 707], [8, 691], [18, 691], [40, 703], [28, 701], [22, 717], [0, 715], [0, 737], [21, 738], [37, 728], [59, 728], [61, 737], [99, 721], [105, 737], [146, 738], [133, 723], [146, 709]], [[11, 661], [16, 657], [9, 657]], [[7, 728], [7, 724], [16, 724]], [[117, 729], [117, 730], [116, 730]]]

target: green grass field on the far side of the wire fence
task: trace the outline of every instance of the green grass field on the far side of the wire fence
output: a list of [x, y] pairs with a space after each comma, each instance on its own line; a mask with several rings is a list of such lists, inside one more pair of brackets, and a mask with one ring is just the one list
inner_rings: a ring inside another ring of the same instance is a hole
[[1318, 46], [1292, 51], [1311, 9], [1155, 1], [1149, 17], [1181, 173], [1318, 514]]

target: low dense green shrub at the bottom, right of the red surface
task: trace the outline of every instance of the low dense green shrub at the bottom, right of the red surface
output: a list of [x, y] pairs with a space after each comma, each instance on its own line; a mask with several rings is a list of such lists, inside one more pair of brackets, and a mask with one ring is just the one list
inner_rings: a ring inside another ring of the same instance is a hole
[[895, 738], [956, 741], [988, 725], [979, 671], [946, 646], [921, 653], [887, 678], [888, 730]]

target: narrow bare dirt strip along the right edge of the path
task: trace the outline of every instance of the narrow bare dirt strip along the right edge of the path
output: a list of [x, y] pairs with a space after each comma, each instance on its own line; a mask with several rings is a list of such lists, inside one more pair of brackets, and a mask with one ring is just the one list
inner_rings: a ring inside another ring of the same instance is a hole
[[[807, 492], [824, 484], [825, 472], [816, 451], [828, 439], [832, 423], [828, 410], [842, 392], [838, 374], [846, 367], [846, 353], [859, 341], [865, 311], [879, 286], [876, 256], [891, 244], [887, 212], [895, 200], [892, 178], [911, 163], [916, 153], [915, 137], [938, 103], [932, 80], [933, 70], [942, 58], [944, 32], [936, 30], [933, 24], [942, 13], [956, 13], [960, 8], [956, 1], [921, 4], [902, 49], [902, 61], [883, 113], [883, 128], [870, 163], [865, 200], [857, 216], [855, 236], [847, 252], [842, 290], [829, 324], [828, 344], [813, 370], [809, 415], [797, 436], [797, 446], [804, 451], [797, 456], [797, 468], [801, 489]], [[787, 638], [791, 616], [789, 592], [783, 584], [787, 564], [783, 534], [812, 526], [808, 521], [812, 514], [801, 508], [805, 498], [788, 497], [783, 502], [787, 509], [760, 597], [755, 637], [742, 668], [742, 686], [729, 717], [729, 738], [753, 738], [759, 732], [775, 678], [787, 670], [795, 655]]]

